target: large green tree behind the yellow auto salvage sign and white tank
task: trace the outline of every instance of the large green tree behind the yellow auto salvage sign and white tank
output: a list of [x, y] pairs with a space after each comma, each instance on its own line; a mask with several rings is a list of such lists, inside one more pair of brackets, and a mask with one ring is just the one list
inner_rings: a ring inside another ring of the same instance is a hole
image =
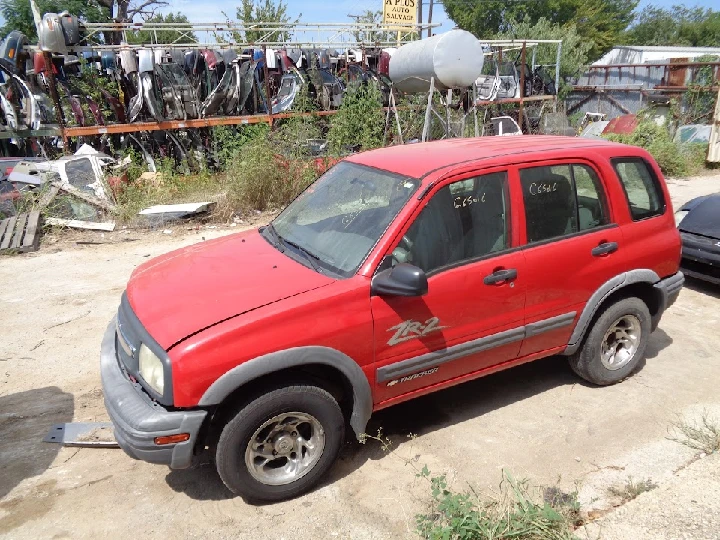
[[512, 31], [518, 22], [545, 19], [561, 27], [574, 25], [577, 34], [593, 42], [595, 60], [610, 50], [633, 20], [638, 0], [445, 0], [445, 11], [462, 29], [480, 39]]

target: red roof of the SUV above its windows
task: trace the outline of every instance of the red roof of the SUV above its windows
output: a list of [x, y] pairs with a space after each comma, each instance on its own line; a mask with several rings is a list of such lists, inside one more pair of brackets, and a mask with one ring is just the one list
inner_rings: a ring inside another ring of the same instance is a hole
[[[522, 135], [519, 137], [475, 137], [449, 139], [379, 148], [346, 158], [353, 163], [420, 178], [430, 171], [480, 159], [573, 149], [623, 147], [601, 139]], [[550, 157], [550, 156], [548, 156]]]

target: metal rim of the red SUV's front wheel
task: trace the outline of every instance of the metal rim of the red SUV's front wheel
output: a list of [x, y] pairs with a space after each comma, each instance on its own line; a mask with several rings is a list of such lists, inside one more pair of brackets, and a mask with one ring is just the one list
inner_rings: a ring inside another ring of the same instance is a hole
[[258, 482], [281, 486], [309, 473], [324, 449], [325, 431], [314, 416], [301, 412], [278, 414], [250, 438], [245, 465]]

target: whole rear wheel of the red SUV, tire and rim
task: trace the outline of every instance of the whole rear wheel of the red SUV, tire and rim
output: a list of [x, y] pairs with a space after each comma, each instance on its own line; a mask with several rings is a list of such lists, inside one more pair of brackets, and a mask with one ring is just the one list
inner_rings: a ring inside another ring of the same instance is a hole
[[593, 384], [607, 386], [627, 378], [645, 355], [650, 312], [639, 298], [624, 298], [606, 307], [583, 346], [569, 358], [570, 367]]

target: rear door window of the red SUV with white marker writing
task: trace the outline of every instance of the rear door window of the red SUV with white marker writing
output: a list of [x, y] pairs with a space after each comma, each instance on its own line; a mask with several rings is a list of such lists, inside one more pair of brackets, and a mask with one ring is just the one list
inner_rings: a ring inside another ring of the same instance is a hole
[[520, 170], [528, 243], [607, 224], [605, 198], [595, 172], [567, 164]]

